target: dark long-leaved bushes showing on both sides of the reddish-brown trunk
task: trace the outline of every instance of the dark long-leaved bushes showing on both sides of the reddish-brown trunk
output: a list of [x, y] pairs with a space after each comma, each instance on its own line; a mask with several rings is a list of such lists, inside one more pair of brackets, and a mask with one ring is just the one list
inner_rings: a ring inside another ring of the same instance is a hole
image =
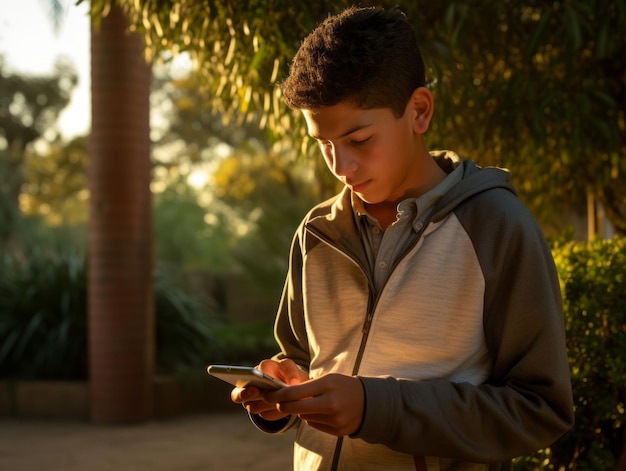
[[[32, 252], [0, 262], [0, 378], [86, 379], [85, 258]], [[154, 287], [156, 372], [203, 372], [222, 355], [213, 333], [221, 323], [163, 272]]]

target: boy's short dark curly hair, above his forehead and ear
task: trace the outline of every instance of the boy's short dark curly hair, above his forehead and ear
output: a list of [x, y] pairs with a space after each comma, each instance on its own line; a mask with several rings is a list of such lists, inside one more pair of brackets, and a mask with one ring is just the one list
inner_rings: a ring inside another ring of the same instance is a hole
[[391, 108], [399, 117], [425, 83], [424, 62], [404, 13], [350, 7], [304, 39], [281, 89], [295, 110], [351, 100], [363, 109]]

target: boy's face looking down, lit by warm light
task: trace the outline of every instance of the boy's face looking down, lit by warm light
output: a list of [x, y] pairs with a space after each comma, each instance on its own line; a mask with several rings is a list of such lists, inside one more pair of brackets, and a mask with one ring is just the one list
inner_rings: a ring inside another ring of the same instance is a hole
[[349, 101], [303, 114], [328, 168], [364, 202], [420, 195], [427, 152], [410, 106], [400, 118], [389, 108], [361, 109]]

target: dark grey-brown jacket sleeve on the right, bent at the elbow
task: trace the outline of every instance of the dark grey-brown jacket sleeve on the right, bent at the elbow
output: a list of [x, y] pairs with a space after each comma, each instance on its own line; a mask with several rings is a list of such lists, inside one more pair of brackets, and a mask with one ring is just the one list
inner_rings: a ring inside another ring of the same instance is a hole
[[485, 276], [490, 379], [363, 377], [365, 415], [355, 437], [412, 455], [508, 461], [549, 446], [573, 424], [558, 278], [543, 234], [513, 194], [479, 195], [456, 216]]

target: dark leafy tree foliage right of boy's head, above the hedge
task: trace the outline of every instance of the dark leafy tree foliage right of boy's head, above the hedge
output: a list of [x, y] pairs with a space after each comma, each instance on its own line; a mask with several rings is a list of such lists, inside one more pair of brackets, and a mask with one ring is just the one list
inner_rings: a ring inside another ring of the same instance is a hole
[[544, 223], [584, 208], [590, 195], [624, 232], [623, 2], [506, 0], [444, 10], [433, 26], [454, 47], [434, 86], [443, 108], [437, 140], [450, 135], [481, 163], [513, 169]]

